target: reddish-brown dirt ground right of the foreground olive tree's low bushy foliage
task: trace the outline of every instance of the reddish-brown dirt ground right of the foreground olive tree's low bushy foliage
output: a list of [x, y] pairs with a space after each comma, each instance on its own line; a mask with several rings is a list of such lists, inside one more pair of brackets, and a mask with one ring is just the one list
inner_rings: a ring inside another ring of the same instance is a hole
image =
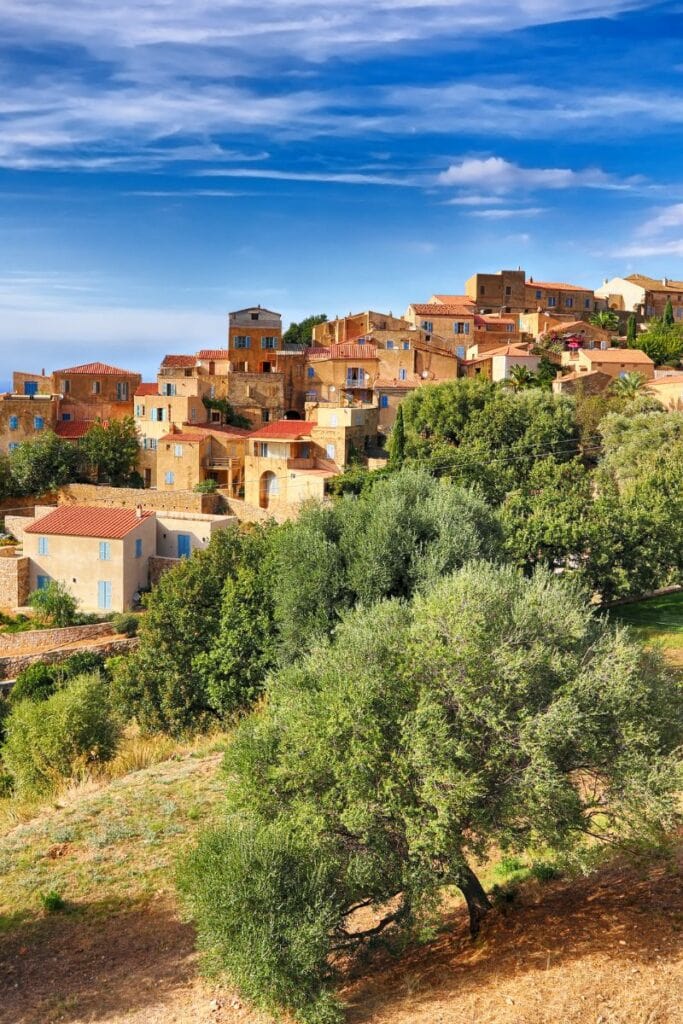
[[381, 953], [349, 977], [347, 1024], [681, 1022], [680, 866], [612, 865], [528, 883], [518, 902], [486, 919], [475, 943], [457, 909], [433, 942], [399, 958]]

